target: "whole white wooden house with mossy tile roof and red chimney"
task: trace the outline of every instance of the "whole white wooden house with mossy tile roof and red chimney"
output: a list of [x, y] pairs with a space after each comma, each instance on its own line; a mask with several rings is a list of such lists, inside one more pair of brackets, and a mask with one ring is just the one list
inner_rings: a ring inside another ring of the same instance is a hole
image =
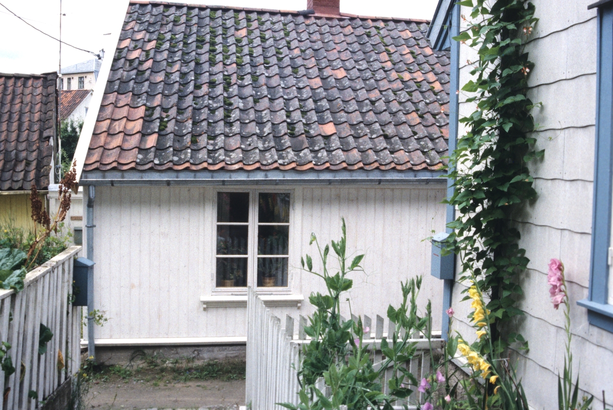
[[447, 53], [423, 20], [313, 7], [129, 5], [75, 153], [97, 346], [245, 343], [247, 286], [310, 313], [300, 257], [317, 268], [311, 232], [338, 240], [341, 216], [366, 253], [353, 313], [416, 275], [442, 303], [423, 240], [445, 222]]

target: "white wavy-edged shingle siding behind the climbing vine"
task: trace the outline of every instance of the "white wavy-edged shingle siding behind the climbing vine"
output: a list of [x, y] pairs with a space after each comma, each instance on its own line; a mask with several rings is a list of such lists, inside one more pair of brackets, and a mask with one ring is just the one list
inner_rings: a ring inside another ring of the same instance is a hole
[[[536, 23], [526, 51], [535, 68], [530, 73], [529, 96], [543, 102], [533, 115], [538, 131], [536, 149], [545, 150], [543, 161], [530, 164], [538, 197], [515, 219], [520, 246], [530, 258], [522, 277], [525, 297], [520, 308], [525, 317], [518, 330], [532, 349], [522, 354], [519, 376], [535, 409], [557, 408], [557, 374], [564, 366], [564, 314], [549, 301], [547, 263], [561, 259], [571, 298], [575, 371], [581, 370], [581, 389], [595, 396], [602, 407], [602, 390], [609, 407], [613, 403], [613, 336], [587, 321], [587, 310], [576, 301], [587, 297], [592, 232], [592, 183], [594, 169], [596, 104], [596, 10], [593, 0], [561, 2], [533, 0]], [[470, 9], [462, 10], [469, 16]], [[463, 28], [470, 22], [462, 21]], [[475, 51], [460, 49], [460, 84], [470, 78]], [[460, 93], [461, 101], [468, 97]], [[460, 115], [470, 115], [474, 104], [460, 102]], [[461, 126], [460, 126], [461, 129]], [[474, 335], [466, 314], [470, 304], [459, 302], [462, 285], [454, 287], [454, 327], [466, 338]], [[519, 353], [518, 353], [519, 354]], [[579, 363], [581, 362], [581, 363]]]

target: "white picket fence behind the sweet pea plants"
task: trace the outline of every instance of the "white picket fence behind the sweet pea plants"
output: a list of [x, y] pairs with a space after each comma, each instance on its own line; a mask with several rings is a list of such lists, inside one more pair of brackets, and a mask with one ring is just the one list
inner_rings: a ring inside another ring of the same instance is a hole
[[[251, 403], [253, 410], [283, 409], [276, 403], [299, 404], [300, 385], [297, 370], [300, 366], [300, 349], [303, 343], [310, 343], [304, 333], [307, 319], [300, 316], [297, 334], [294, 334], [294, 318], [286, 315], [284, 326], [281, 320], [266, 308], [256, 292], [249, 288], [247, 303], [247, 359], [246, 359], [246, 403]], [[386, 306], [381, 306], [386, 308]], [[395, 330], [394, 322], [387, 319], [388, 331], [384, 332], [386, 319], [376, 315], [373, 327], [369, 316], [362, 317], [364, 327], [371, 329], [363, 343], [372, 347], [371, 357], [375, 369], [380, 368], [385, 357], [379, 351], [381, 340]], [[357, 317], [354, 317], [357, 320]], [[374, 332], [373, 332], [374, 330]], [[430, 371], [430, 343], [433, 349], [443, 346], [440, 332], [433, 332], [430, 342], [424, 335], [412, 335], [409, 342], [415, 342], [417, 354], [406, 363], [406, 368], [419, 380]], [[384, 393], [387, 393], [387, 381], [392, 377], [392, 370], [385, 373]], [[321, 382], [319, 390], [327, 395]], [[411, 403], [422, 403], [422, 395], [414, 392]], [[399, 407], [400, 408], [400, 407]], [[415, 408], [410, 406], [409, 408]], [[341, 409], [340, 409], [341, 410]]]

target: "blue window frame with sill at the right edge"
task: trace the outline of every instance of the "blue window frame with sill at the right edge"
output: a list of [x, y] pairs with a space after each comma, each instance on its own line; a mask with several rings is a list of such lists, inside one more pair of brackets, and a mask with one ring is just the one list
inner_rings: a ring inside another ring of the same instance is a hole
[[592, 260], [588, 297], [577, 304], [588, 309], [590, 324], [613, 332], [613, 303], [609, 296], [613, 292], [609, 281], [613, 268], [613, 1], [601, 0], [588, 7], [594, 8], [598, 9], [598, 59]]

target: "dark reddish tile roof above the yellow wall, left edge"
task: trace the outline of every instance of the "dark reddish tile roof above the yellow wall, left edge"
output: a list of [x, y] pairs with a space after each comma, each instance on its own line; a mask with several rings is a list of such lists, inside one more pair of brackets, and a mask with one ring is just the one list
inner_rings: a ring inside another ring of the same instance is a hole
[[0, 73], [0, 191], [49, 185], [58, 74]]

